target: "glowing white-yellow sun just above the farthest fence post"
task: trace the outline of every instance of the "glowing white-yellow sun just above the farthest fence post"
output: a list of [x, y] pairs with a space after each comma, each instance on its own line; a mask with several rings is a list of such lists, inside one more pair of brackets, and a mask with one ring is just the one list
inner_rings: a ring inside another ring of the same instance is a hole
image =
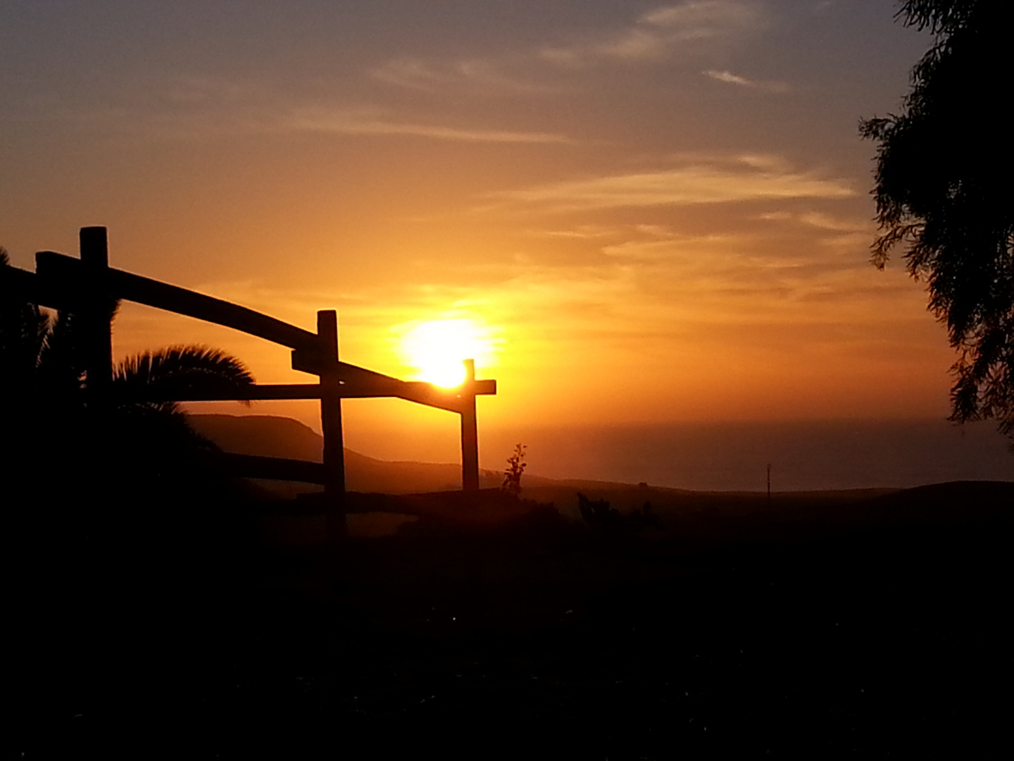
[[401, 326], [399, 352], [415, 376], [446, 389], [464, 380], [465, 359], [488, 367], [494, 351], [489, 328], [472, 320], [430, 320]]

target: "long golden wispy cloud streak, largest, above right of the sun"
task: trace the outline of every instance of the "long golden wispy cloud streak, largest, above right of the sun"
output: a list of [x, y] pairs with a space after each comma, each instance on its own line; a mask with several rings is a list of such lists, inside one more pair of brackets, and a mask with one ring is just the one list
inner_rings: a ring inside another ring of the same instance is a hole
[[561, 212], [855, 195], [845, 180], [794, 170], [779, 157], [741, 156], [652, 171], [567, 180], [505, 191], [494, 197]]

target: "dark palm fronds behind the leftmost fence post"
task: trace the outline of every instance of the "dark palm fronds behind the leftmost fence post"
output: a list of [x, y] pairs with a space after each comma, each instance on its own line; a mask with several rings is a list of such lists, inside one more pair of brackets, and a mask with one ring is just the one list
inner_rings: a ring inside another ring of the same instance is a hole
[[[10, 281], [9, 268], [9, 256], [0, 248], [0, 286]], [[111, 321], [118, 307], [111, 302]], [[12, 472], [37, 470], [32, 464], [40, 458], [47, 467], [54, 460], [69, 467], [68, 449], [80, 444], [85, 427], [83, 343], [74, 314], [51, 316], [11, 288], [0, 288], [0, 405], [7, 423], [2, 438], [11, 449], [4, 461]], [[118, 470], [131, 480], [178, 475], [197, 463], [195, 455], [215, 447], [190, 427], [173, 400], [192, 392], [238, 397], [252, 384], [242, 361], [206, 346], [170, 346], [129, 357], [114, 367], [108, 454], [125, 458]]]

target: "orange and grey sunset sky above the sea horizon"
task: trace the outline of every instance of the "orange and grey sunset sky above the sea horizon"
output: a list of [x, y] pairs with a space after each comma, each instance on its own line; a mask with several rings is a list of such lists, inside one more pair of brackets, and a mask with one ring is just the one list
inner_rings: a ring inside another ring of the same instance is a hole
[[[336, 308], [342, 358], [399, 377], [413, 329], [458, 321], [499, 384], [481, 431], [943, 418], [925, 283], [869, 264], [858, 123], [898, 112], [931, 44], [895, 10], [0, 0], [0, 245], [31, 268], [105, 225], [113, 266], [310, 330]], [[115, 328], [118, 357], [206, 343], [310, 379], [149, 307]], [[345, 410], [350, 445], [456, 440], [439, 411]]]

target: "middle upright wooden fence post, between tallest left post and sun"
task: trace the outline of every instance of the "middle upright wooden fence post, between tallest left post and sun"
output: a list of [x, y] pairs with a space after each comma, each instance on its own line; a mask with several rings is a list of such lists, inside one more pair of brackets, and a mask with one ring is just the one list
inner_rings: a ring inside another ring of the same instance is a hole
[[342, 435], [342, 384], [338, 371], [338, 313], [317, 312], [320, 368], [320, 428], [323, 432], [323, 492], [328, 514], [328, 541], [333, 549], [345, 539], [345, 441]]

